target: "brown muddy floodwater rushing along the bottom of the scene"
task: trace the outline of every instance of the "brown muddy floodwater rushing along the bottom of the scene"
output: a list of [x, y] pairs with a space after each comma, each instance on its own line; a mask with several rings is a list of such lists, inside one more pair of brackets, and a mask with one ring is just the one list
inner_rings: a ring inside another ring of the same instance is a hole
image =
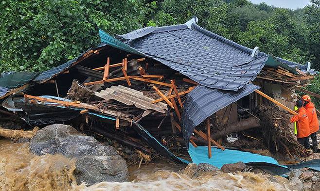
[[129, 167], [130, 182], [100, 182], [86, 187], [76, 185], [74, 160], [62, 155], [35, 156], [28, 143], [0, 140], [0, 189], [3, 191], [282, 191], [288, 181], [281, 176], [254, 173], [190, 178], [184, 166], [160, 161]]

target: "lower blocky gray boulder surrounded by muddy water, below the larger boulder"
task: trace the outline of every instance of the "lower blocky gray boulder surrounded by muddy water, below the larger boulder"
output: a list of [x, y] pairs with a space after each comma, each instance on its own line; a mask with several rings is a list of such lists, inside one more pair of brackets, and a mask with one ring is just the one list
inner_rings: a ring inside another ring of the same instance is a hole
[[85, 182], [92, 185], [97, 182], [124, 182], [128, 181], [128, 168], [126, 162], [117, 156], [83, 157], [76, 160], [76, 169], [73, 174], [77, 184]]

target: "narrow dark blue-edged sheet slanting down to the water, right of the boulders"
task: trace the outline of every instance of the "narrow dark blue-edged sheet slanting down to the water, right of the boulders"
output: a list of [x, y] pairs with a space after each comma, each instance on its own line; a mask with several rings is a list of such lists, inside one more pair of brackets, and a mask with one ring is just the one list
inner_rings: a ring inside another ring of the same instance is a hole
[[138, 132], [138, 134], [157, 152], [159, 152], [162, 156], [171, 159], [178, 164], [186, 163], [189, 161], [185, 159], [181, 159], [174, 154], [172, 154], [165, 146], [163, 146], [157, 139], [155, 139], [144, 127], [142, 127], [139, 123], [132, 122], [134, 129]]

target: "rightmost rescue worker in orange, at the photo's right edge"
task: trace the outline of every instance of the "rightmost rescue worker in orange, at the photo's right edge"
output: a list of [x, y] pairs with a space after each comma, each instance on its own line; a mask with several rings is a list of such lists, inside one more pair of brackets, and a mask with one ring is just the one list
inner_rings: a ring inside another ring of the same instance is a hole
[[310, 127], [310, 137], [312, 139], [312, 150], [313, 152], [318, 151], [318, 143], [317, 143], [317, 132], [319, 130], [319, 121], [316, 113], [315, 105], [311, 102], [311, 98], [308, 95], [302, 96], [302, 100], [304, 101], [303, 107], [306, 109], [306, 113], [309, 119], [309, 127]]

